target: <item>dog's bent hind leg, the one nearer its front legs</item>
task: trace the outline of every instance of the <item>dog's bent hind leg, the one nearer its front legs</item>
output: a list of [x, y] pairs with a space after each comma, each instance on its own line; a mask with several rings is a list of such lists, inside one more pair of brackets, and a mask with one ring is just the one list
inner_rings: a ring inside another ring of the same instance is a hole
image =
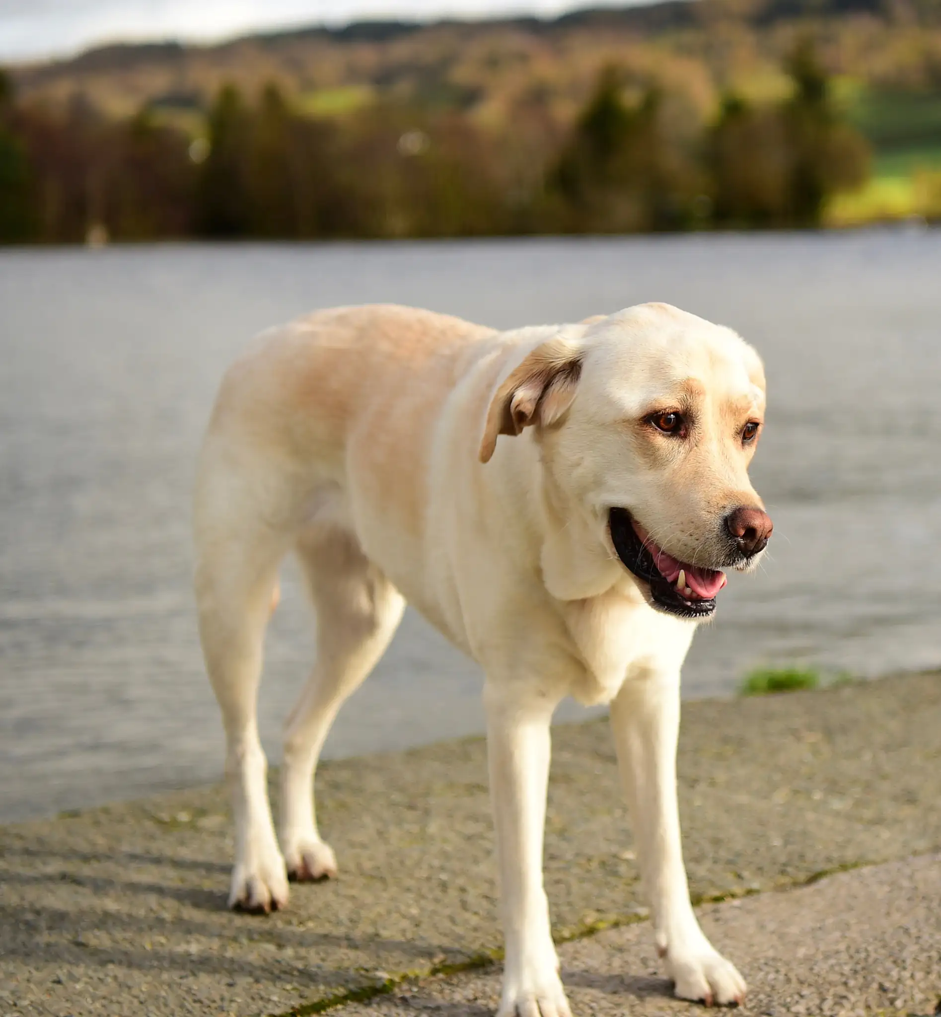
[[316, 661], [285, 725], [281, 845], [296, 880], [336, 876], [337, 860], [317, 831], [313, 775], [330, 725], [389, 646], [405, 601], [337, 526], [311, 526], [297, 542], [316, 613]]

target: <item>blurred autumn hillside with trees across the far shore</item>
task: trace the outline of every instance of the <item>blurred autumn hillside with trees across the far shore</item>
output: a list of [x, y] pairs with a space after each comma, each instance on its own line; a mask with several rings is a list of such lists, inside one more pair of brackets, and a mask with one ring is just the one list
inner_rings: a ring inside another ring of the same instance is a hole
[[[667, 0], [549, 21], [359, 23], [109, 46], [11, 68], [8, 81], [0, 236], [16, 180], [19, 204], [32, 188], [20, 232], [35, 239], [80, 239], [93, 221], [144, 238], [941, 216], [941, 0]], [[63, 161], [82, 194], [49, 182]], [[371, 189], [363, 161], [383, 178]], [[120, 215], [105, 193], [127, 190], [107, 182], [118, 167], [138, 180]], [[252, 202], [268, 212], [239, 213], [259, 188]], [[285, 188], [291, 206], [276, 215]]]

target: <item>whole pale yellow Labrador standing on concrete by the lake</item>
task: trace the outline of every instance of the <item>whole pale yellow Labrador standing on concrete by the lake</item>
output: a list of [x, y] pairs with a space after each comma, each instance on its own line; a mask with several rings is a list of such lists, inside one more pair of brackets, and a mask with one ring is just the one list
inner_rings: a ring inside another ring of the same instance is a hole
[[[236, 832], [229, 903], [334, 876], [313, 773], [405, 601], [485, 673], [506, 967], [501, 1017], [561, 1017], [542, 885], [549, 721], [609, 703], [656, 944], [677, 994], [745, 982], [701, 932], [680, 844], [680, 667], [723, 569], [771, 521], [748, 477], [757, 354], [664, 304], [495, 332], [395, 306], [321, 311], [229, 370], [195, 493], [195, 587]], [[255, 700], [278, 566], [300, 559], [317, 659], [287, 721], [275, 834]], [[280, 844], [280, 846], [279, 846]]]

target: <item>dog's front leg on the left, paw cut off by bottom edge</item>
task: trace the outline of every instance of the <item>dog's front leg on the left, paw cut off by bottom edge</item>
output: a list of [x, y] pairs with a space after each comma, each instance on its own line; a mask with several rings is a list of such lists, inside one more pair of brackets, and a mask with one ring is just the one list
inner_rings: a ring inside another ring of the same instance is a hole
[[542, 886], [542, 833], [555, 704], [488, 683], [487, 759], [506, 942], [497, 1017], [571, 1017]]

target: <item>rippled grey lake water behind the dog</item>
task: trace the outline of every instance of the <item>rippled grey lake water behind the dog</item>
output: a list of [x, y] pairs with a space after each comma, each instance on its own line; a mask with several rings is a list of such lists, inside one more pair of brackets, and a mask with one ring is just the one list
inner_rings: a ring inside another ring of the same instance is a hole
[[[394, 301], [510, 327], [664, 300], [763, 354], [775, 522], [685, 694], [756, 663], [941, 665], [941, 232], [0, 252], [0, 818], [216, 779], [189, 488], [226, 364], [262, 327]], [[312, 656], [290, 569], [262, 737]], [[480, 678], [414, 614], [328, 755], [482, 730]], [[564, 715], [581, 715], [574, 706]]]

